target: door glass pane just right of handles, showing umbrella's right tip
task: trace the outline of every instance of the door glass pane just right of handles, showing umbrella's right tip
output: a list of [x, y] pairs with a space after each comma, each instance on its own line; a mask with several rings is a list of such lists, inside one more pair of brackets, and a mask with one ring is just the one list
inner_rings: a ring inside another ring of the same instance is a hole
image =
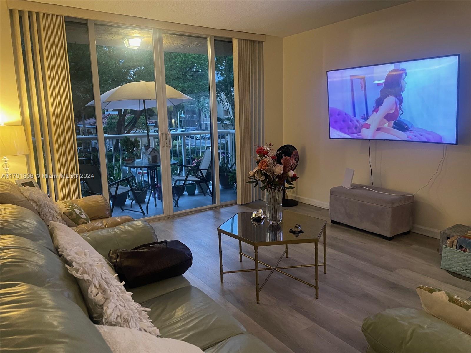
[[173, 211], [216, 203], [208, 38], [163, 34]]

